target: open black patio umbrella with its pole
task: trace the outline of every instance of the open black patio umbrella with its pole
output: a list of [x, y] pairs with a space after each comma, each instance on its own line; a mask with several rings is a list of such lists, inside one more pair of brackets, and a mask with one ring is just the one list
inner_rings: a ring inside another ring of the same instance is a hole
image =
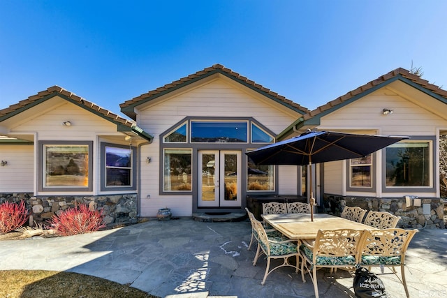
[[[257, 165], [309, 165], [343, 159], [359, 158], [408, 139], [404, 136], [357, 135], [332, 131], [308, 131], [298, 137], [261, 147], [247, 156]], [[311, 220], [314, 221], [315, 198], [310, 180]]]

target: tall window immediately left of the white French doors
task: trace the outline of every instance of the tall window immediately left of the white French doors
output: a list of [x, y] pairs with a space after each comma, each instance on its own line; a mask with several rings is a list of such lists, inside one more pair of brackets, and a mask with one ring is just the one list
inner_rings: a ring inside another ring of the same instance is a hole
[[163, 191], [191, 191], [191, 149], [164, 149]]

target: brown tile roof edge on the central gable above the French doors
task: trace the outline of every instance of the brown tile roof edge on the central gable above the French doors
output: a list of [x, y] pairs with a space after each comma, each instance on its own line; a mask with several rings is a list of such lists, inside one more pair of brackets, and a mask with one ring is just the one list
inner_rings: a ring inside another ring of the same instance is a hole
[[222, 73], [223, 75], [226, 75], [227, 77], [231, 77], [237, 82], [240, 82], [242, 84], [246, 84], [249, 87], [252, 87], [256, 91], [260, 92], [261, 94], [265, 94], [266, 96], [270, 96], [274, 99], [277, 99], [281, 101], [282, 103], [285, 103], [286, 105], [290, 105], [291, 107], [294, 107], [296, 110], [299, 110], [302, 114], [305, 114], [309, 112], [309, 109], [306, 107], [302, 107], [298, 103], [294, 103], [292, 100], [281, 96], [277, 94], [274, 91], [271, 91], [268, 88], [263, 87], [261, 84], [257, 84], [256, 82], [249, 80], [247, 77], [244, 77], [240, 75], [239, 73], [234, 72], [230, 68], [226, 68], [225, 66], [221, 64], [214, 64], [211, 67], [205, 68], [203, 70], [199, 70], [196, 73], [193, 73], [191, 75], [188, 75], [187, 77], [182, 77], [181, 79], [170, 82], [169, 84], [164, 85], [163, 87], [159, 87], [157, 89], [154, 89], [152, 91], [149, 91], [145, 94], [142, 94], [140, 96], [137, 96], [135, 98], [132, 98], [131, 100], [126, 100], [126, 102], [119, 105], [121, 108], [129, 107], [129, 105], [135, 105], [140, 103], [140, 101], [145, 100], [147, 98], [150, 98], [152, 96], [156, 96], [158, 94], [161, 94], [165, 91], [170, 91], [171, 89], [175, 89], [177, 87], [181, 87], [182, 85], [191, 82], [192, 80], [200, 79], [200, 77], [204, 77], [206, 75], [210, 75], [212, 73]]

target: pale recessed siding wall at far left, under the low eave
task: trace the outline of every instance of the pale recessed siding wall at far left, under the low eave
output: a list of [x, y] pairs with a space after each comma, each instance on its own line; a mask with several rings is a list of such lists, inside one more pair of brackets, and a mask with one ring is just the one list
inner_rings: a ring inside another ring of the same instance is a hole
[[0, 193], [32, 193], [34, 191], [34, 146], [1, 145]]

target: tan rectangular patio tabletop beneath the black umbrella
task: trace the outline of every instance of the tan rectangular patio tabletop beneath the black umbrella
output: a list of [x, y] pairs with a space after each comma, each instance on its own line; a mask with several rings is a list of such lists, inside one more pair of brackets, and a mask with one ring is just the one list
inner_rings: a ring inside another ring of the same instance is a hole
[[310, 214], [262, 214], [261, 216], [272, 228], [289, 239], [296, 240], [315, 239], [318, 230], [377, 230], [369, 225], [329, 214], [314, 214], [314, 221], [311, 221]]

